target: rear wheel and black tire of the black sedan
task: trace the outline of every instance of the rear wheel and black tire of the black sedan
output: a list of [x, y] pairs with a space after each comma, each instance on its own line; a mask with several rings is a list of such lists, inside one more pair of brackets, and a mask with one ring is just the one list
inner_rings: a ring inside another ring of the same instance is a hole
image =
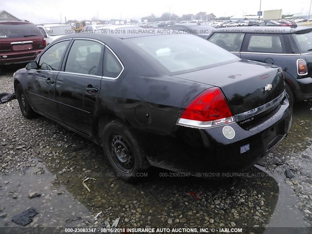
[[118, 178], [127, 182], [142, 179], [139, 173], [150, 167], [138, 137], [134, 131], [119, 120], [112, 120], [101, 134], [104, 154]]

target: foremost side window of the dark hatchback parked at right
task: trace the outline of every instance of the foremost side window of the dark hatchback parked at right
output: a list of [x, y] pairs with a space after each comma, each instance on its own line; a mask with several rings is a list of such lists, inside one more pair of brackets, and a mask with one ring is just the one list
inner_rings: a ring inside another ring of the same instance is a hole
[[244, 36], [244, 33], [215, 33], [208, 40], [227, 51], [239, 52]]

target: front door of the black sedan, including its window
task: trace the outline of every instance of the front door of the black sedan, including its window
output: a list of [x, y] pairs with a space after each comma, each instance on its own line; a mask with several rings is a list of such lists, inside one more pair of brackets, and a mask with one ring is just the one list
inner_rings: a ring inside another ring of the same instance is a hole
[[28, 98], [43, 114], [59, 120], [55, 102], [55, 84], [70, 40], [58, 42], [38, 59], [39, 69], [28, 72]]

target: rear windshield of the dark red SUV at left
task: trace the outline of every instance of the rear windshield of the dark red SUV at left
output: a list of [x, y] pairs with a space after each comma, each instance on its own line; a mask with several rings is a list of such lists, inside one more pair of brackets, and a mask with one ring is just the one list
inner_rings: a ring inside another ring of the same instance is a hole
[[6, 24], [0, 23], [0, 39], [42, 37], [39, 29], [31, 23]]

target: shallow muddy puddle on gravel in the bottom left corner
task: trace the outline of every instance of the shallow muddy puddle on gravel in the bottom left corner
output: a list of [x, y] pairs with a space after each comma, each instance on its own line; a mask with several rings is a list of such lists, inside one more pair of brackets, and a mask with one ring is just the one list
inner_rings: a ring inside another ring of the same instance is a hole
[[[89, 210], [65, 187], [57, 188], [53, 185], [54, 174], [41, 163], [25, 173], [12, 172], [0, 178], [1, 207], [5, 207], [3, 212], [7, 214], [0, 218], [0, 227], [19, 227], [11, 221], [12, 217], [31, 207], [39, 215], [33, 218], [29, 227], [83, 227], [86, 222], [94, 222]], [[31, 199], [28, 197], [31, 192], [38, 192], [41, 196]]]

